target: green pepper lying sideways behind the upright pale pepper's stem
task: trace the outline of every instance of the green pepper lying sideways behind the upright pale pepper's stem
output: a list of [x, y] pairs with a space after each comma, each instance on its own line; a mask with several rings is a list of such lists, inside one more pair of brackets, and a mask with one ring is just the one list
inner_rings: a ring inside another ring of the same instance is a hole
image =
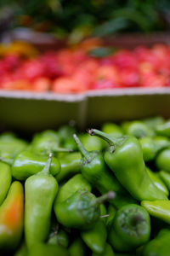
[[[26, 180], [37, 172], [41, 172], [48, 160], [47, 156], [37, 156], [30, 151], [23, 151], [18, 154], [11, 167], [12, 175], [18, 180]], [[53, 157], [50, 172], [52, 175], [57, 175], [60, 172], [59, 160]]]

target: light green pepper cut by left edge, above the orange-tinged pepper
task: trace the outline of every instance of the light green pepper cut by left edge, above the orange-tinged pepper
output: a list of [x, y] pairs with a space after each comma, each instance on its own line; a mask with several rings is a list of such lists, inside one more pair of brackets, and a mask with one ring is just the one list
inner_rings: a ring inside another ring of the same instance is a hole
[[0, 206], [8, 193], [11, 179], [12, 175], [10, 167], [5, 163], [0, 162]]

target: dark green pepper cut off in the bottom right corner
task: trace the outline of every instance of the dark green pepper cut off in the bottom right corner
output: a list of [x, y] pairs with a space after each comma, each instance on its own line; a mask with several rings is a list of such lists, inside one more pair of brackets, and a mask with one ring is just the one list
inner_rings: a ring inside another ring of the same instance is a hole
[[153, 240], [145, 246], [143, 256], [169, 256], [170, 230], [161, 230]]

